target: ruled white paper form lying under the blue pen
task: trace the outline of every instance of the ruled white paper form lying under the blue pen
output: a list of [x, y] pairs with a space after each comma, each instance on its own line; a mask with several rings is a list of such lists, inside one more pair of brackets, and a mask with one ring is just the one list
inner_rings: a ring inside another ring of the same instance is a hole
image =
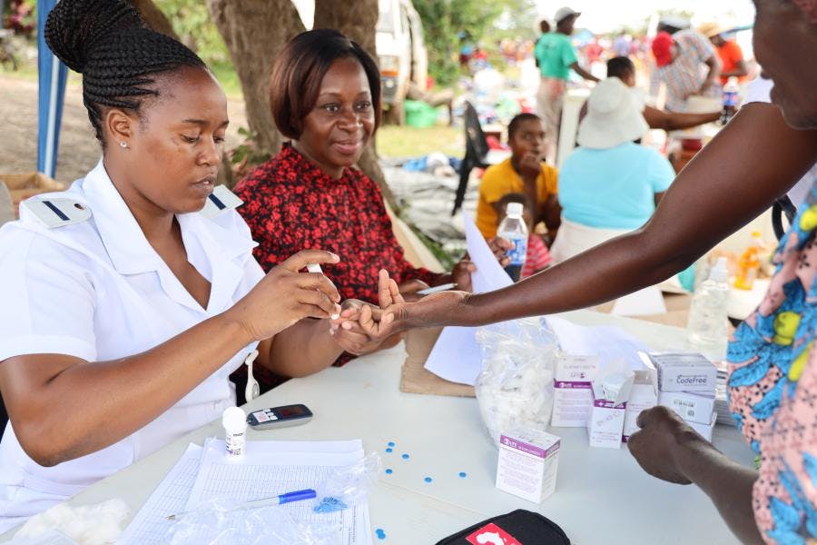
[[[362, 441], [250, 441], [240, 461], [228, 459], [225, 452], [223, 441], [204, 444], [202, 464], [184, 510], [193, 510], [204, 500], [251, 501], [314, 489], [319, 493], [316, 500], [295, 501], [278, 509], [287, 510], [300, 522], [335, 527], [333, 534], [341, 536], [342, 545], [371, 543], [369, 505], [365, 501], [333, 513], [313, 510], [331, 474], [363, 459]], [[246, 513], [227, 516], [241, 521]]]

